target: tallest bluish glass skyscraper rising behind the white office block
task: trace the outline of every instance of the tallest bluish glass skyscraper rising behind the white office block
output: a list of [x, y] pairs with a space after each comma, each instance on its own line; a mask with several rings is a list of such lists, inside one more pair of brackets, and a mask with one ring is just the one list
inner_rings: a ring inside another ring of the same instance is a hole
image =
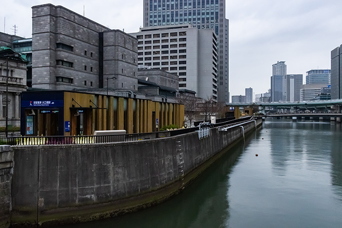
[[143, 26], [190, 24], [218, 37], [218, 101], [229, 102], [228, 19], [225, 0], [143, 0]]

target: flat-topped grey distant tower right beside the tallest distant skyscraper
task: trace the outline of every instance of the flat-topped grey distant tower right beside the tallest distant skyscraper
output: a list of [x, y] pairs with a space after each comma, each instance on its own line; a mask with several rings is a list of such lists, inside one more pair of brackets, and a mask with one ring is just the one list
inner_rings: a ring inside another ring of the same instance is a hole
[[300, 86], [303, 84], [303, 74], [286, 74], [283, 76], [282, 99], [284, 101], [300, 100]]

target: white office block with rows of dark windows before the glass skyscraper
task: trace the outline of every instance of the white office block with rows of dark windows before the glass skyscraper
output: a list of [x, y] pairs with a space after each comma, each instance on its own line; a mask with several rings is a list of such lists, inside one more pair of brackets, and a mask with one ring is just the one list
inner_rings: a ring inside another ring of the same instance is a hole
[[212, 29], [188, 24], [140, 28], [138, 65], [176, 73], [179, 88], [217, 101], [217, 37]]

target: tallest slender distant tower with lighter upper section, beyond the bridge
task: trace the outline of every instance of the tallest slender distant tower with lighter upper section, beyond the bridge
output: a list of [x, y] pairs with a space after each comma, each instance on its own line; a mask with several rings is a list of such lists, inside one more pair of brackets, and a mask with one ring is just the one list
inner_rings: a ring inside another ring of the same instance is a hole
[[286, 75], [285, 61], [277, 61], [272, 65], [271, 76], [271, 101], [278, 102], [282, 100], [282, 82]]

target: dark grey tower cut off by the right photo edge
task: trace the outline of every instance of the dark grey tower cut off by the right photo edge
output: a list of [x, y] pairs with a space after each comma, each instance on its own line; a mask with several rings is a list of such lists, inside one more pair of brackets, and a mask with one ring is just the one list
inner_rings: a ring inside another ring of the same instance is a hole
[[342, 96], [342, 45], [331, 50], [331, 99]]

